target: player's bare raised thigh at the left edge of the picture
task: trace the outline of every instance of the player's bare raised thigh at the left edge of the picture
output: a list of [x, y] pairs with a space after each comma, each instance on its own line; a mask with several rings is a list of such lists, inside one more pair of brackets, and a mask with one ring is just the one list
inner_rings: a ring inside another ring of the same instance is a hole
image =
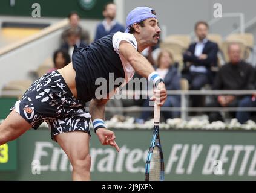
[[12, 110], [0, 125], [0, 145], [18, 138], [30, 128], [30, 124], [15, 110]]

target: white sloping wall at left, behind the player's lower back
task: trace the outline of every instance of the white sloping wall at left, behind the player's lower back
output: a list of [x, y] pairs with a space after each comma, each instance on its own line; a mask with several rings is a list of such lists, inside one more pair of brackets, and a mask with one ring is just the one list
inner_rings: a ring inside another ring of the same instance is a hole
[[28, 72], [51, 57], [59, 46], [62, 30], [0, 56], [0, 88], [11, 80], [27, 80]]

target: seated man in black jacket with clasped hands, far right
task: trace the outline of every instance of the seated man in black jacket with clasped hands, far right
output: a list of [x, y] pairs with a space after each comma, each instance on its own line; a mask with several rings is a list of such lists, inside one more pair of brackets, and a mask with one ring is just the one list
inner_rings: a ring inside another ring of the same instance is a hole
[[[241, 60], [238, 43], [228, 46], [229, 63], [220, 68], [214, 81], [214, 90], [252, 90], [254, 89], [254, 68]], [[206, 103], [206, 107], [237, 107], [245, 96], [218, 95]], [[235, 117], [235, 112], [230, 112]], [[208, 112], [209, 121], [224, 121], [220, 112]]]

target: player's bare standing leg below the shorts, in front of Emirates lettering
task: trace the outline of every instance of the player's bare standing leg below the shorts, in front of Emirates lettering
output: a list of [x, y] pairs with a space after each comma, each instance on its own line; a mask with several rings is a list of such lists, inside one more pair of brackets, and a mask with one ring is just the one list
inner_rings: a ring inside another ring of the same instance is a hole
[[82, 131], [73, 131], [57, 135], [56, 140], [71, 162], [73, 180], [90, 180], [90, 136]]

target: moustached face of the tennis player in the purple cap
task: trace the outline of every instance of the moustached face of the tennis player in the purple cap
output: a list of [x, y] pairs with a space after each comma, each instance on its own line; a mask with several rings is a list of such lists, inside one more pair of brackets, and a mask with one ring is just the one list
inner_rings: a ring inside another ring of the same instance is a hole
[[[160, 28], [157, 19], [149, 18], [144, 21], [144, 27], [139, 25], [140, 39], [148, 46], [157, 44], [160, 38]], [[147, 46], [147, 47], [148, 47]]]

